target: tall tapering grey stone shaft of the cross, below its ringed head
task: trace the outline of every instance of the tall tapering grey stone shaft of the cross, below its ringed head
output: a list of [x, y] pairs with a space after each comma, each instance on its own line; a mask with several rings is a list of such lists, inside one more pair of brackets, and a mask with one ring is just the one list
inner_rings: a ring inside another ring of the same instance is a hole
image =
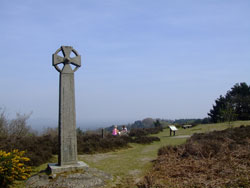
[[[59, 164], [68, 165], [77, 163], [76, 114], [74, 74], [65, 73], [65, 65], [60, 74], [60, 107], [59, 107]], [[67, 69], [66, 69], [67, 71]], [[71, 70], [72, 71], [72, 70]]]

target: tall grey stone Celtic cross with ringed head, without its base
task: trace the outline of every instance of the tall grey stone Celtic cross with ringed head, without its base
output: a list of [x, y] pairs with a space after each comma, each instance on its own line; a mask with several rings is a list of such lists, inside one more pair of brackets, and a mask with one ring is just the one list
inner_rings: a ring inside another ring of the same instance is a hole
[[[81, 56], [71, 46], [62, 46], [53, 54], [52, 61], [60, 72], [58, 165], [77, 164], [74, 72], [81, 66]], [[62, 68], [59, 64], [63, 64]]]

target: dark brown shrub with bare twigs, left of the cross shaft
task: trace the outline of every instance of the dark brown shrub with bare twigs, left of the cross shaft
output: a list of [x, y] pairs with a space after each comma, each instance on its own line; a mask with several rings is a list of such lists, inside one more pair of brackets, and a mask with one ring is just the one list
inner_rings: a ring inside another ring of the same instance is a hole
[[37, 136], [27, 125], [29, 117], [30, 114], [17, 114], [16, 118], [8, 120], [0, 109], [0, 150], [26, 151], [27, 157], [30, 158], [28, 165], [38, 166], [57, 153], [58, 139], [51, 134]]

